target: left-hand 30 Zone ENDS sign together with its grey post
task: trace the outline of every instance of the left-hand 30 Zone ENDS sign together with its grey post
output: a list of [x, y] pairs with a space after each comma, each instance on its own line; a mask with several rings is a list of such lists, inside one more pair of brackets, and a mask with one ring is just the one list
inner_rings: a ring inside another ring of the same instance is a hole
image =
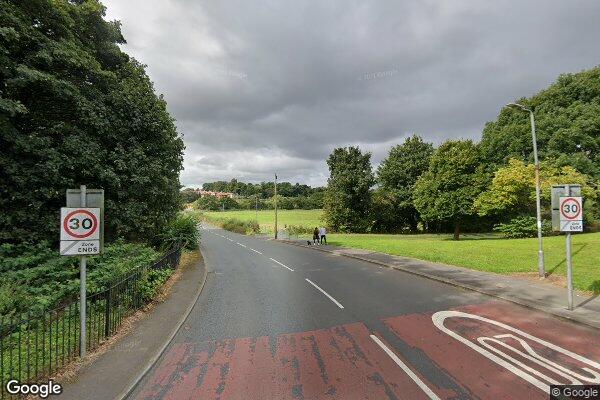
[[104, 190], [67, 190], [67, 207], [60, 210], [60, 254], [79, 256], [79, 355], [86, 354], [87, 255], [99, 254], [104, 237]]

